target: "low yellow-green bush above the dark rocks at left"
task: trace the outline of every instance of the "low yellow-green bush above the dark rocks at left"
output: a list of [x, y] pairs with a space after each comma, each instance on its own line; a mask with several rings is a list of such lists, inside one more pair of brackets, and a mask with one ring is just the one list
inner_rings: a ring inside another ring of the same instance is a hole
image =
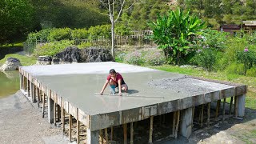
[[54, 56], [54, 54], [57, 54], [58, 52], [64, 50], [67, 46], [73, 46], [74, 41], [69, 41], [69, 40], [62, 40], [59, 42], [50, 42], [50, 43], [45, 43], [45, 44], [39, 44], [36, 46], [36, 50], [34, 54], [36, 56], [39, 55], [50, 55]]

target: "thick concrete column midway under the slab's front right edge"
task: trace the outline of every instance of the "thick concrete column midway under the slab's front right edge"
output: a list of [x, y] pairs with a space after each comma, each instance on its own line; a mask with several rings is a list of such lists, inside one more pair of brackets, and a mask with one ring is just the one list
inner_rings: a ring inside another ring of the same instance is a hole
[[192, 111], [192, 107], [182, 110], [180, 133], [186, 138], [189, 138], [190, 134], [192, 133]]

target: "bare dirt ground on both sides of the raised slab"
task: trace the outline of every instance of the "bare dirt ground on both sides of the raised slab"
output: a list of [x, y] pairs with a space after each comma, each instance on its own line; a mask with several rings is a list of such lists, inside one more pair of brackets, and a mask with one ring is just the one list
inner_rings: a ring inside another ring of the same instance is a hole
[[[167, 118], [168, 116], [165, 119]], [[158, 118], [154, 121], [153, 141], [162, 138], [168, 134], [165, 131], [170, 130], [166, 120], [161, 121], [161, 126], [158, 126], [159, 122]], [[206, 128], [206, 126], [198, 128], [195, 122], [193, 134], [189, 139], [179, 136], [176, 140], [164, 138], [162, 141], [154, 141], [154, 143], [256, 143], [256, 110], [246, 109], [246, 116], [243, 120], [227, 118], [225, 122], [213, 120], [211, 122], [210, 128]], [[148, 130], [138, 123], [137, 132], [134, 131], [134, 143], [147, 143], [146, 137], [139, 136], [141, 133], [147, 135]], [[122, 141], [122, 138], [118, 139]], [[0, 99], [0, 143], [58, 144], [69, 143], [69, 141], [66, 136], [62, 135], [61, 128], [49, 124], [47, 118], [42, 118], [38, 107], [33, 106], [18, 91], [16, 94]]]

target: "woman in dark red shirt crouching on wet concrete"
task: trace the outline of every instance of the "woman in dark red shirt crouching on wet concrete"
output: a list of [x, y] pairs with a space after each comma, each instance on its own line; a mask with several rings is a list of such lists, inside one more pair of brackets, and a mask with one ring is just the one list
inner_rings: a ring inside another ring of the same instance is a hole
[[102, 87], [100, 94], [102, 95], [107, 85], [110, 85], [110, 93], [115, 94], [115, 88], [118, 87], [119, 95], [122, 96], [122, 90], [127, 92], [128, 86], [123, 80], [122, 75], [117, 73], [114, 69], [110, 70], [110, 74], [106, 78], [106, 82]]

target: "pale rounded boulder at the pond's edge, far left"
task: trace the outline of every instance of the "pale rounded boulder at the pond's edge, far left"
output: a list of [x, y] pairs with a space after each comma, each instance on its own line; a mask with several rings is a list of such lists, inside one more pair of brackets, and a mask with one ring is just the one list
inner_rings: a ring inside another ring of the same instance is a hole
[[18, 58], [7, 58], [6, 63], [2, 65], [0, 70], [2, 71], [18, 70], [19, 66], [22, 66], [22, 64], [18, 60]]

